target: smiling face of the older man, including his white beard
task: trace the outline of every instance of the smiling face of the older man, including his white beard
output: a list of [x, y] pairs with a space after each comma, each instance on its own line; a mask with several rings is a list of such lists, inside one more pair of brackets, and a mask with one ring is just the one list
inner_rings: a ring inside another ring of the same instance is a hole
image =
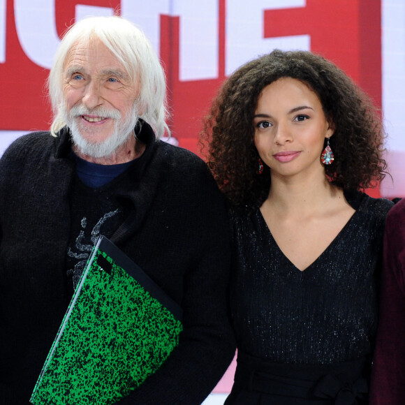
[[63, 92], [66, 124], [84, 154], [108, 156], [128, 139], [137, 120], [139, 84], [101, 40], [72, 47]]

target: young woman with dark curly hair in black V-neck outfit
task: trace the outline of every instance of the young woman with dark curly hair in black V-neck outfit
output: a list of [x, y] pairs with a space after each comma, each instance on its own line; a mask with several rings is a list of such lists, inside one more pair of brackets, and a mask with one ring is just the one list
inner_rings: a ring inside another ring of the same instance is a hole
[[385, 170], [369, 98], [330, 61], [275, 50], [230, 76], [204, 134], [234, 238], [226, 404], [367, 404], [392, 206], [361, 191]]

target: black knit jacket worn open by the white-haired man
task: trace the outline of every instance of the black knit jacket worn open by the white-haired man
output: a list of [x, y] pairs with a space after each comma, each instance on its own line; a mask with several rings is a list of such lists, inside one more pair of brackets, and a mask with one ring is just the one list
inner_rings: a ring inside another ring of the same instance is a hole
[[[66, 249], [75, 162], [70, 134], [19, 138], [0, 160], [0, 404], [29, 404], [40, 369], [66, 311]], [[133, 205], [113, 242], [184, 311], [179, 346], [122, 404], [200, 404], [233, 358], [226, 288], [230, 241], [226, 208], [197, 156], [147, 145]], [[96, 203], [96, 202], [94, 202]]]

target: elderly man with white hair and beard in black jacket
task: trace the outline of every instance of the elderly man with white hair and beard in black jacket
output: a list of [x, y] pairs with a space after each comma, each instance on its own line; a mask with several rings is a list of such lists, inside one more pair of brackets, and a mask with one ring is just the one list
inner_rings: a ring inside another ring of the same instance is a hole
[[50, 132], [0, 161], [0, 404], [31, 392], [98, 235], [181, 305], [179, 345], [125, 404], [200, 404], [232, 360], [226, 209], [205, 163], [161, 142], [165, 79], [145, 36], [93, 17], [50, 72]]

